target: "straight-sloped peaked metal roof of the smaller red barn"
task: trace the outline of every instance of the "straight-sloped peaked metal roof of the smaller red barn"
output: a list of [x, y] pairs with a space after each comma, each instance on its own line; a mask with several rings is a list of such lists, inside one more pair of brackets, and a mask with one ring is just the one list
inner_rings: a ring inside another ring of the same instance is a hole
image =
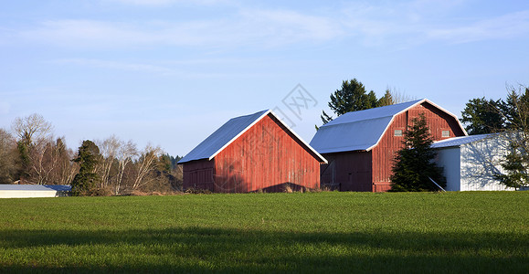
[[270, 110], [259, 111], [253, 114], [239, 116], [227, 121], [216, 132], [209, 135], [206, 140], [200, 142], [190, 153], [187, 153], [178, 163], [186, 163], [195, 160], [213, 159], [218, 153], [222, 152], [231, 142], [238, 139], [240, 135], [248, 131], [254, 124], [263, 119], [267, 115], [272, 115], [277, 121], [284, 126], [284, 128], [291, 132], [302, 144], [311, 151], [320, 162], [327, 163], [323, 156], [316, 152], [310, 144], [303, 141], [302, 138], [293, 132], [280, 118]]

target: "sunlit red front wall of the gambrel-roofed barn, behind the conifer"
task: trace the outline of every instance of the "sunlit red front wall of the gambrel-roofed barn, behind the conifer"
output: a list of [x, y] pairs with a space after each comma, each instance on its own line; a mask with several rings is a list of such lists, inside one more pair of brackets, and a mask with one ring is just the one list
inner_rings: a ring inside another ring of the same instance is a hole
[[[403, 147], [404, 136], [395, 136], [396, 130], [406, 131], [407, 125], [424, 113], [430, 133], [435, 141], [463, 136], [458, 121], [444, 111], [432, 106], [428, 102], [415, 106], [408, 111], [395, 116], [387, 128], [378, 145], [373, 149], [373, 190], [374, 192], [388, 191], [390, 186], [393, 159], [395, 153]], [[442, 137], [443, 131], [449, 131], [450, 137]]]

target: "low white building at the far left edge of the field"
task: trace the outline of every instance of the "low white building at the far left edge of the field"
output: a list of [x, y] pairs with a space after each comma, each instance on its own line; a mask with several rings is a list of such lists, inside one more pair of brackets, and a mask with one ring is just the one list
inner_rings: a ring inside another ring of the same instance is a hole
[[41, 198], [69, 195], [69, 185], [0, 184], [0, 198]]

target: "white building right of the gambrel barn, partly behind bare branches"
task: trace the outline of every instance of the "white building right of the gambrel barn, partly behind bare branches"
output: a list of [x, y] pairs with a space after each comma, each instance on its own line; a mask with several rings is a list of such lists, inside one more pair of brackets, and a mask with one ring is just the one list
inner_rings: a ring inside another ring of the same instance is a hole
[[443, 167], [448, 191], [514, 190], [500, 184], [494, 174], [507, 153], [508, 140], [503, 134], [481, 134], [434, 142], [437, 164]]

